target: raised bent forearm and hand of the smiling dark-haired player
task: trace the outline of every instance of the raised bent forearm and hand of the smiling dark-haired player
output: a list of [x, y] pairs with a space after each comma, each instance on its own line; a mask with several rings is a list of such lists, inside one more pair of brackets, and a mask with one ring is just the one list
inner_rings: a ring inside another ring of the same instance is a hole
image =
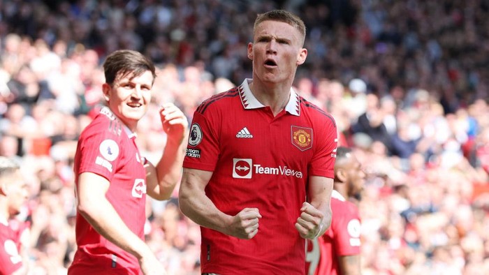
[[183, 112], [173, 103], [166, 103], [160, 110], [161, 124], [167, 135], [163, 155], [156, 167], [147, 163], [147, 195], [156, 200], [168, 200], [180, 180], [187, 137], [188, 121]]

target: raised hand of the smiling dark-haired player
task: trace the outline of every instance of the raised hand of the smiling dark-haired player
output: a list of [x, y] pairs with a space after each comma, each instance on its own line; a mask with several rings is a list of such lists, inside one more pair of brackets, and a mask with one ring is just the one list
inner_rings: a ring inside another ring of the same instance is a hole
[[187, 117], [185, 117], [182, 110], [173, 103], [163, 103], [159, 115], [163, 131], [168, 135], [168, 139], [176, 139], [180, 143], [184, 139], [189, 126], [189, 121], [187, 121]]

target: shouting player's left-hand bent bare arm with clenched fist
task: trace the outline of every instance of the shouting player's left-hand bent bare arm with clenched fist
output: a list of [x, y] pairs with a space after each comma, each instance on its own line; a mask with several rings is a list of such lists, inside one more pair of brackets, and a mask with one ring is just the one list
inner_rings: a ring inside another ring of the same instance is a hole
[[182, 213], [205, 228], [241, 239], [254, 237], [258, 232], [258, 218], [261, 218], [258, 209], [245, 208], [236, 216], [224, 214], [205, 195], [205, 186], [211, 177], [212, 172], [184, 168], [179, 192]]

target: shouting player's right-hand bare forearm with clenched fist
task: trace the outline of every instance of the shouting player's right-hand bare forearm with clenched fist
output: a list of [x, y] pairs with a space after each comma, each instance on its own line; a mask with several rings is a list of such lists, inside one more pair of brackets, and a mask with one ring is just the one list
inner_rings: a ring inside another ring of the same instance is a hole
[[[305, 239], [314, 239], [323, 235], [331, 225], [331, 192], [333, 179], [327, 177], [309, 177], [307, 194], [309, 203], [305, 202], [295, 228]], [[322, 226], [321, 226], [322, 223]]]

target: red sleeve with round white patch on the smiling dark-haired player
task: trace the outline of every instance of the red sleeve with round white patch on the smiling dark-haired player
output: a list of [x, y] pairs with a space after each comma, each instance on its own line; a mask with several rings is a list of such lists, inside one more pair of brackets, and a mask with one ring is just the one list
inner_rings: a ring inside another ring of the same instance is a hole
[[112, 181], [120, 162], [120, 140], [122, 131], [115, 131], [118, 121], [96, 123], [89, 126], [78, 140], [77, 154], [80, 154], [78, 174], [92, 172]]

